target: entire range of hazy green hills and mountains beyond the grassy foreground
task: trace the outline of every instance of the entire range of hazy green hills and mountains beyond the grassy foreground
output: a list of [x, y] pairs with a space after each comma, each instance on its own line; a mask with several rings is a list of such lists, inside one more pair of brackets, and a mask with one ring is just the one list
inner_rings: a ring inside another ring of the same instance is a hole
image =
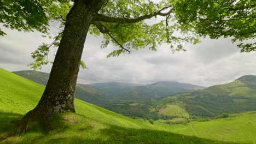
[[[40, 71], [14, 71], [45, 85], [49, 74]], [[104, 82], [77, 84], [75, 97], [125, 116], [214, 117], [223, 112], [256, 110], [256, 76], [245, 75], [224, 85], [204, 88], [176, 81], [149, 85]]]

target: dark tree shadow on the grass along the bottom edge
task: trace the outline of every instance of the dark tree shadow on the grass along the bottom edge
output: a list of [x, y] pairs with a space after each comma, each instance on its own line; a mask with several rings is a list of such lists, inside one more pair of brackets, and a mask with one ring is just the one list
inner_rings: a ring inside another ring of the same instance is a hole
[[[80, 131], [79, 133], [86, 133]], [[172, 144], [234, 144], [217, 140], [202, 139], [195, 136], [174, 134], [167, 131], [132, 129], [111, 126], [99, 131], [97, 139], [86, 139], [83, 136], [61, 137], [51, 139], [46, 143], [172, 143]], [[104, 137], [104, 138], [103, 138]], [[107, 137], [107, 139], [106, 139]], [[236, 143], [238, 144], [238, 143]]]

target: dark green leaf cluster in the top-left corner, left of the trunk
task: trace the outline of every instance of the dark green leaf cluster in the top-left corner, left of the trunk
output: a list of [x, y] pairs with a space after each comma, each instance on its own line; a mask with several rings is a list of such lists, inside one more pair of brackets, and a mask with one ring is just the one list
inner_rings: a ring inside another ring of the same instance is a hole
[[[48, 16], [45, 11], [49, 8], [51, 1], [0, 1], [0, 23], [4, 27], [17, 29], [18, 31], [40, 32], [48, 30]], [[0, 29], [0, 35], [4, 35]]]

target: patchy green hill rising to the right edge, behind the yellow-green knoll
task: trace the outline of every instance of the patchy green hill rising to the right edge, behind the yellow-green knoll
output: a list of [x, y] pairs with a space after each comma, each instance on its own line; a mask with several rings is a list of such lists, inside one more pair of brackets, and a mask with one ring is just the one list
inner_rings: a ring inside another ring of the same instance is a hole
[[170, 95], [159, 100], [158, 107], [170, 103], [183, 103], [189, 115], [200, 117], [255, 111], [256, 76], [246, 75], [224, 85]]

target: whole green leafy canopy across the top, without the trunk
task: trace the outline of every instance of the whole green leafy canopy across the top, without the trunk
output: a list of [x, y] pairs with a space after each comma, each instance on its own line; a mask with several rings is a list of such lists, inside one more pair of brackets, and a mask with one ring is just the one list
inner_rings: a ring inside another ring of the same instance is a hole
[[[96, 1], [96, 0], [94, 0]], [[60, 21], [60, 33], [53, 43], [43, 44], [32, 53], [34, 69], [48, 64], [48, 53], [58, 47], [66, 15], [75, 1], [1, 1], [0, 22], [4, 27], [19, 31], [37, 29], [46, 34], [49, 21]], [[141, 48], [156, 51], [167, 44], [172, 50], [184, 50], [185, 43], [199, 43], [199, 37], [212, 39], [232, 37], [232, 41], [255, 38], [255, 10], [253, 0], [109, 0], [94, 17], [89, 33], [103, 35], [102, 48], [112, 43], [119, 49], [107, 57]], [[28, 7], [30, 6], [30, 7]], [[0, 34], [4, 33], [0, 30]], [[239, 44], [241, 52], [256, 51], [255, 43]], [[82, 62], [82, 64], [84, 64]]]

